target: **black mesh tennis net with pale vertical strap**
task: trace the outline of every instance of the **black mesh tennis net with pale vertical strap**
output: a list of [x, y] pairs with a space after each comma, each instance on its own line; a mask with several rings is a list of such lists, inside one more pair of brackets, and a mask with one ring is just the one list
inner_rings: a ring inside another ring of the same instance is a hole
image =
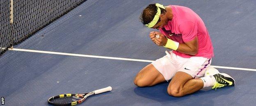
[[0, 56], [86, 0], [0, 0]]

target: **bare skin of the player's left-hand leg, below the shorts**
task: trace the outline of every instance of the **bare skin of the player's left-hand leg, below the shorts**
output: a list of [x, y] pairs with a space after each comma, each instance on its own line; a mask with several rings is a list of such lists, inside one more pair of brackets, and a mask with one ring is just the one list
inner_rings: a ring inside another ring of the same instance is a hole
[[139, 71], [134, 79], [134, 84], [139, 87], [144, 87], [153, 86], [164, 81], [166, 81], [165, 77], [153, 66], [153, 64], [149, 64]]

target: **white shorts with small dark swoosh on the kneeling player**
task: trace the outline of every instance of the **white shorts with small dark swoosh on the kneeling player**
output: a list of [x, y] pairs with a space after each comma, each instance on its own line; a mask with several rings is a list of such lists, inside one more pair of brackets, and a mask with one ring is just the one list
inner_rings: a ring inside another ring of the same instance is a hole
[[202, 77], [206, 68], [210, 66], [211, 59], [206, 57], [184, 58], [172, 51], [165, 51], [167, 55], [152, 62], [153, 66], [165, 77], [170, 80], [178, 71], [185, 72], [193, 78]]

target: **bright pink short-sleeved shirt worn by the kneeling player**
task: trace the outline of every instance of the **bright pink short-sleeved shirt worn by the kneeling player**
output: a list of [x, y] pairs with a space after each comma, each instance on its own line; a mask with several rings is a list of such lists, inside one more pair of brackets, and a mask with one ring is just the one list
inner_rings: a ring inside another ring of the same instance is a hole
[[190, 42], [196, 36], [198, 39], [197, 55], [188, 55], [178, 51], [173, 51], [173, 53], [185, 58], [192, 56], [213, 57], [213, 45], [206, 26], [199, 15], [187, 7], [176, 5], [169, 5], [169, 7], [172, 9], [173, 18], [168, 21], [167, 25], [159, 29], [160, 32], [179, 43]]

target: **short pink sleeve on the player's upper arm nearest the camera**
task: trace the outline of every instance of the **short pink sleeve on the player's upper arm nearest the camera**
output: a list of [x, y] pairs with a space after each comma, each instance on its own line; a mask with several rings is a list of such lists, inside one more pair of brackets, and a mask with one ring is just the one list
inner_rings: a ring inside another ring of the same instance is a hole
[[185, 21], [179, 25], [184, 42], [190, 42], [197, 36], [197, 25], [191, 21]]

